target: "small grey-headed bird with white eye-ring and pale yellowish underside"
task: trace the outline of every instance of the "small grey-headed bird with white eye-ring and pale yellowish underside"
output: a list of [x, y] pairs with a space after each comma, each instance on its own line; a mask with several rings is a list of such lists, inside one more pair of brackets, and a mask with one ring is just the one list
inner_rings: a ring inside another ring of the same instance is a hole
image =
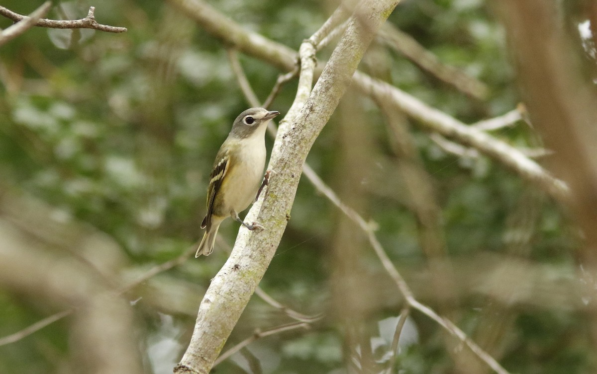
[[239, 114], [232, 130], [221, 145], [207, 188], [207, 214], [201, 223], [205, 229], [195, 257], [209, 255], [214, 250], [220, 223], [232, 217], [249, 230], [263, 228], [259, 223], [248, 225], [238, 217], [257, 197], [269, 180], [269, 172], [261, 177], [265, 167], [265, 130], [267, 123], [280, 114], [264, 108], [250, 108]]

